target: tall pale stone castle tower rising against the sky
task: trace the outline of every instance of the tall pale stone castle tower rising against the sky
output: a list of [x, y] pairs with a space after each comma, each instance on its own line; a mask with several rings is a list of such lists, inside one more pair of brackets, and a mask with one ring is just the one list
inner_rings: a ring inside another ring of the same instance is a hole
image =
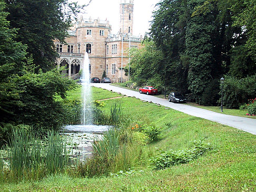
[[120, 3], [120, 33], [133, 33], [133, 0], [121, 0]]

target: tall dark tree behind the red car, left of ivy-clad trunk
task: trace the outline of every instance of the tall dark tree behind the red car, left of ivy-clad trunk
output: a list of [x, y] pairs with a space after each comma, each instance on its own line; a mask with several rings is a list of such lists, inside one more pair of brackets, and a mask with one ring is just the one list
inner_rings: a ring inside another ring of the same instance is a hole
[[156, 49], [163, 54], [157, 74], [165, 79], [165, 87], [186, 93], [188, 63], [184, 52], [186, 21], [189, 17], [186, 1], [163, 0], [156, 6], [158, 9], [153, 13], [150, 36]]

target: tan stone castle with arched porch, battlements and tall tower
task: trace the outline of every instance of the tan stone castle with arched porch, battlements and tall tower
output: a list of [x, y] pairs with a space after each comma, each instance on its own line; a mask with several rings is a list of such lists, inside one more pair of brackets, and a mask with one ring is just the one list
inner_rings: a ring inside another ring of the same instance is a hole
[[139, 48], [142, 42], [142, 36], [133, 36], [133, 6], [133, 0], [121, 0], [117, 34], [111, 33], [109, 21], [81, 16], [68, 31], [65, 45], [55, 40], [56, 51], [60, 54], [57, 66], [66, 67], [62, 72], [72, 79], [78, 78], [87, 52], [91, 77], [101, 78], [105, 70], [111, 82], [125, 82], [129, 78], [123, 70], [129, 64], [129, 48]]

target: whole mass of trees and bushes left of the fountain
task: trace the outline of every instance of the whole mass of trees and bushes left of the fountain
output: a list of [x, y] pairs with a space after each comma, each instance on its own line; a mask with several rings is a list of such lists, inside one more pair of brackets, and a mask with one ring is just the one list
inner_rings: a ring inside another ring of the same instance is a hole
[[84, 6], [66, 0], [0, 0], [1, 139], [18, 124], [44, 131], [78, 122], [78, 102], [65, 99], [75, 83], [55, 69], [53, 40], [64, 43], [71, 17]]

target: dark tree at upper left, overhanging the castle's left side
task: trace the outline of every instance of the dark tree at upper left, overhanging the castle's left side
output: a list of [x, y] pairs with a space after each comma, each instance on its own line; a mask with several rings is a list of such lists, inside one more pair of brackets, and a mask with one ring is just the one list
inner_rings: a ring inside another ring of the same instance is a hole
[[[43, 72], [54, 68], [57, 53], [54, 39], [64, 43], [71, 26], [72, 15], [81, 8], [68, 0], [5, 0], [7, 20], [18, 28], [16, 41], [27, 45], [28, 56]], [[91, 1], [90, 1], [91, 2]]]

